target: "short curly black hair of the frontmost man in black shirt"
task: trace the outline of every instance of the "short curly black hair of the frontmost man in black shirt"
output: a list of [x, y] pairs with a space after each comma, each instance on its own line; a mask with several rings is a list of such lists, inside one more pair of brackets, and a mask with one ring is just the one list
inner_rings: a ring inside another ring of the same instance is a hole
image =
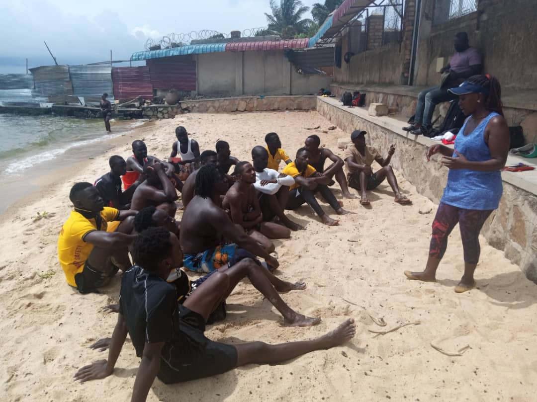
[[146, 271], [153, 272], [171, 254], [171, 233], [165, 228], [148, 228], [133, 243], [133, 258]]

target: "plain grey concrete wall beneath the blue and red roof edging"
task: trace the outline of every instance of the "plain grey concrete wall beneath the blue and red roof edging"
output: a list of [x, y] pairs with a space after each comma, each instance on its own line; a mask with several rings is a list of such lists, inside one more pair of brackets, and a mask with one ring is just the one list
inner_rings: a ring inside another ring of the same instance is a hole
[[283, 50], [198, 55], [198, 93], [211, 97], [307, 95], [329, 87], [329, 75], [302, 75]]

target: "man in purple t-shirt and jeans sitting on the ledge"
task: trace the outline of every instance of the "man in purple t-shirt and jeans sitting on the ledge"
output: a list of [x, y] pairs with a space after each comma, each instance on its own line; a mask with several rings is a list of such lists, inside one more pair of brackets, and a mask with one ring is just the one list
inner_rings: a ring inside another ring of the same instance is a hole
[[466, 32], [456, 34], [453, 45], [455, 54], [440, 70], [444, 74], [440, 87], [433, 86], [418, 95], [414, 123], [409, 127], [403, 127], [403, 130], [410, 131], [410, 134], [429, 134], [432, 130], [434, 107], [439, 103], [457, 98], [456, 95], [448, 92], [448, 89], [460, 85], [466, 78], [481, 73], [483, 58], [478, 49], [470, 47], [468, 34]]

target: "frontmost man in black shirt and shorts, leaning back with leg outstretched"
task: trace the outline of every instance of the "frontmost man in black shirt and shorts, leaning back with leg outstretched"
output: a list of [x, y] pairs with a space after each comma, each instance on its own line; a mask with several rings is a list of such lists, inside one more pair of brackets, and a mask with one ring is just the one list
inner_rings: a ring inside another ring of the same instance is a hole
[[354, 320], [309, 341], [267, 345], [252, 342], [227, 345], [205, 337], [205, 324], [215, 305], [221, 303], [230, 278], [217, 272], [178, 305], [176, 288], [166, 279], [170, 267], [183, 257], [177, 237], [164, 228], [140, 234], [135, 245], [138, 264], [121, 281], [120, 312], [112, 335], [108, 361], [82, 367], [75, 381], [110, 376], [127, 334], [141, 357], [133, 387], [133, 401], [145, 401], [155, 377], [178, 383], [209, 377], [249, 363], [271, 364], [294, 359], [313, 350], [342, 345], [355, 335]]

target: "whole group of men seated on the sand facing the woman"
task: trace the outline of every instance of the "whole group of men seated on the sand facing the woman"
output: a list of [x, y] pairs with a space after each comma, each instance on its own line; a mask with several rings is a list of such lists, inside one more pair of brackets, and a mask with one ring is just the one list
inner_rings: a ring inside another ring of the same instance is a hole
[[[225, 300], [244, 277], [281, 313], [285, 325], [320, 322], [294, 311], [280, 297], [305, 289], [306, 283], [282, 281], [272, 274], [279, 262], [271, 255], [271, 239], [288, 238], [291, 231], [303, 229], [285, 210], [304, 203], [324, 224], [337, 225], [318, 203], [317, 193], [338, 215], [349, 214], [329, 187], [335, 184], [333, 178], [345, 198], [355, 198], [349, 187], [357, 189], [362, 204], [369, 203], [367, 191], [387, 178], [395, 202], [410, 203], [389, 166], [395, 147], [382, 158], [366, 146], [365, 135], [352, 133], [344, 160], [311, 135], [293, 162], [278, 135], [269, 133], [266, 147], [252, 149], [250, 163], [232, 157], [225, 141], [216, 143], [216, 152], [200, 153], [198, 143], [178, 127], [168, 162], [148, 156], [146, 145], [138, 140], [126, 161], [110, 158], [111, 171], [95, 185], [72, 186], [74, 210], [58, 242], [67, 282], [81, 294], [98, 293], [120, 269], [124, 272], [120, 302], [114, 308], [118, 322], [106, 343], [108, 360], [81, 368], [75, 378], [88, 381], [110, 375], [127, 333], [142, 357], [133, 400], [145, 400], [155, 376], [165, 383], [188, 381], [247, 363], [284, 361], [351, 339], [352, 319], [324, 337], [293, 342], [292, 347], [262, 342], [224, 345], [205, 338], [204, 330], [207, 322], [225, 318]], [[331, 164], [325, 167], [326, 159]], [[382, 166], [374, 173], [373, 161]], [[184, 208], [181, 222], [175, 220], [178, 191]], [[203, 276], [191, 281], [181, 267]]]

